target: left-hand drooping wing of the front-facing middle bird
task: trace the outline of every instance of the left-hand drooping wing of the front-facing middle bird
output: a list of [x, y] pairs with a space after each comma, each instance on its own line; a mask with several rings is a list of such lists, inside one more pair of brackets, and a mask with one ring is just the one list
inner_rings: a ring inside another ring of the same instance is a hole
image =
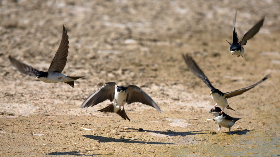
[[117, 84], [109, 82], [93, 92], [86, 100], [82, 103], [82, 108], [90, 107], [99, 104], [107, 99], [110, 101], [114, 100], [115, 88]]

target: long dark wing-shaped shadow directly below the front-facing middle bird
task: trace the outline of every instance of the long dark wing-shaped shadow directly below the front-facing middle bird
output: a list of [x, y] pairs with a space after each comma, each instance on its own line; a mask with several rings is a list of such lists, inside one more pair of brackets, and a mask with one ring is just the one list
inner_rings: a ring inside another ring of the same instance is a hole
[[139, 141], [135, 138], [112, 138], [112, 137], [103, 137], [98, 135], [82, 135], [83, 137], [92, 139], [92, 140], [98, 140], [99, 143], [101, 142], [123, 142], [123, 143], [139, 143], [139, 144], [152, 144], [152, 145], [170, 145], [173, 143], [167, 143], [167, 142], [146, 142], [146, 141]]

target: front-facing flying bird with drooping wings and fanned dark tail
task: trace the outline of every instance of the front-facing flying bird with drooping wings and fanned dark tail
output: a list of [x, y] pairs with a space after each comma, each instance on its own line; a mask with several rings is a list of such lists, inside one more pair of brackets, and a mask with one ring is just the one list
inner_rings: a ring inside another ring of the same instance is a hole
[[82, 108], [90, 107], [99, 104], [109, 99], [113, 101], [112, 104], [105, 107], [104, 109], [98, 110], [100, 112], [114, 112], [119, 114], [123, 119], [130, 119], [124, 111], [124, 104], [130, 104], [133, 102], [141, 102], [156, 108], [161, 113], [161, 109], [156, 105], [155, 101], [152, 100], [142, 89], [137, 86], [129, 85], [128, 87], [117, 86], [114, 82], [109, 82], [93, 92], [86, 100], [82, 103]]

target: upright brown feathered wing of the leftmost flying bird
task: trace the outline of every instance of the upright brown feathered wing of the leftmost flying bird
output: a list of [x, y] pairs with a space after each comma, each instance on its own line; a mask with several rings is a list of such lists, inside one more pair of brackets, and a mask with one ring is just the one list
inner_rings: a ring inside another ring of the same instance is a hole
[[62, 72], [66, 65], [67, 61], [67, 56], [68, 56], [68, 46], [69, 41], [68, 41], [68, 35], [67, 31], [63, 25], [63, 32], [62, 32], [62, 38], [60, 45], [58, 47], [57, 52], [54, 55], [54, 58], [49, 66], [49, 72], [50, 71], [56, 71], [56, 72]]

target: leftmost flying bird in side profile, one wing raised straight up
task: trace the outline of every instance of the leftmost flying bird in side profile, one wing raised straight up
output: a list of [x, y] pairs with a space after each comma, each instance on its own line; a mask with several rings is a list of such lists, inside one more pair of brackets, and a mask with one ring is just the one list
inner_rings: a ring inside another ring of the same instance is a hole
[[68, 43], [69, 41], [67, 31], [63, 25], [62, 39], [48, 71], [39, 71], [29, 65], [21, 63], [11, 56], [9, 56], [9, 59], [16, 70], [23, 74], [38, 78], [40, 81], [43, 81], [45, 83], [64, 82], [74, 88], [74, 80], [83, 78], [85, 76], [66, 76], [64, 74], [61, 74], [67, 61], [69, 47]]

